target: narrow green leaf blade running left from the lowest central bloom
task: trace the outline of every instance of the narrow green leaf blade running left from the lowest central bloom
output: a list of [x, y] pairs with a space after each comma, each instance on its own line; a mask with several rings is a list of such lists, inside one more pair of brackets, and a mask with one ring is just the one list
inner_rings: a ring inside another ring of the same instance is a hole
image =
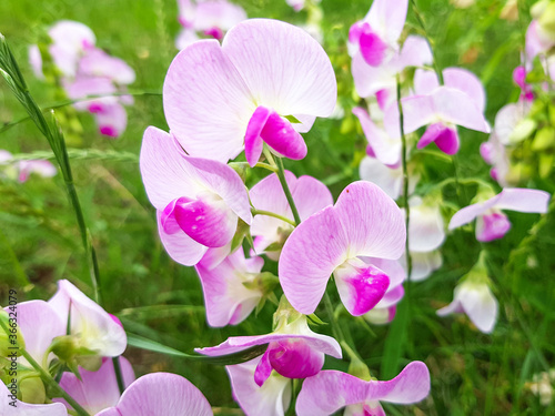
[[155, 341], [143, 338], [142, 336], [129, 334], [129, 333], [128, 333], [128, 345], [134, 346], [135, 348], [152, 351], [154, 353], [173, 355], [173, 356], [186, 358], [186, 359], [202, 361], [202, 362], [206, 362], [206, 363], [215, 364], [215, 365], [241, 364], [241, 363], [251, 361], [252, 358], [258, 357], [259, 355], [264, 354], [264, 352], [268, 348], [268, 344], [256, 345], [254, 347], [241, 351], [241, 352], [235, 353], [235, 354], [222, 355], [219, 357], [210, 357], [206, 355], [185, 354], [179, 349], [175, 349], [175, 348], [169, 347], [167, 345], [162, 345], [160, 343], [157, 343]]

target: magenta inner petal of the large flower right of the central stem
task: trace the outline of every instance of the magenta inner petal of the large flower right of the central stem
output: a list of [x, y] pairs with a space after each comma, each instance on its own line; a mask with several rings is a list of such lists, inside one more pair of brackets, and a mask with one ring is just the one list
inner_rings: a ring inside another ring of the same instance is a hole
[[[362, 262], [361, 262], [362, 263]], [[333, 273], [341, 302], [353, 316], [364, 315], [385, 295], [390, 278], [373, 265], [343, 263]]]

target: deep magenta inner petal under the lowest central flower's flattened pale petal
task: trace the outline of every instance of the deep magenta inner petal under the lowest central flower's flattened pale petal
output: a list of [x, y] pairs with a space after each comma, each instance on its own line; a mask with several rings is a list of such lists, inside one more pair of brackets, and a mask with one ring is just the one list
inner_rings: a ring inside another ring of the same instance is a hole
[[324, 353], [312, 348], [303, 339], [273, 342], [268, 346], [266, 354], [272, 368], [287, 378], [311, 377], [324, 365]]

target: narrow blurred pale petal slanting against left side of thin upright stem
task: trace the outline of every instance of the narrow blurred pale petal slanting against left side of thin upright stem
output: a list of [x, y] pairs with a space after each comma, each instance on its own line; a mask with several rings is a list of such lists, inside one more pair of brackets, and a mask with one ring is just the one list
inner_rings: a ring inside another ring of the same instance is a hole
[[375, 158], [383, 164], [397, 165], [401, 161], [401, 141], [389, 138], [385, 131], [379, 129], [370, 119], [366, 110], [355, 106], [353, 114], [359, 118]]

